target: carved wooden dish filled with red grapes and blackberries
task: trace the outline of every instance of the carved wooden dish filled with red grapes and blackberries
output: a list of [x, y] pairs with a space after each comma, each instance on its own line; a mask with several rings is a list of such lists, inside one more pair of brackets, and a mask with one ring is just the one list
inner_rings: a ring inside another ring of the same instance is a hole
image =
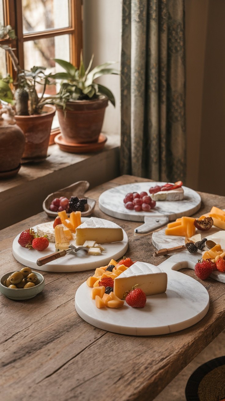
[[43, 202], [43, 210], [49, 217], [57, 217], [58, 212], [65, 210], [69, 216], [71, 212], [81, 211], [81, 216], [91, 215], [96, 201], [84, 196], [89, 188], [89, 182], [78, 181], [65, 188], [48, 195]]

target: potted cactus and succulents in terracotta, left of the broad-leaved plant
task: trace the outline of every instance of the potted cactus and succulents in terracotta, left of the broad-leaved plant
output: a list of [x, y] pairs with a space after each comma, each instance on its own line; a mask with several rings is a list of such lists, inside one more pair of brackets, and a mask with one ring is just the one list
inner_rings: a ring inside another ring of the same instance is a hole
[[[0, 38], [15, 38], [10, 25], [0, 28]], [[45, 67], [32, 67], [30, 71], [22, 70], [13, 49], [0, 43], [7, 51], [16, 71], [16, 80], [11, 77], [0, 79], [0, 99], [14, 105], [16, 124], [25, 135], [25, 149], [22, 160], [45, 160], [49, 146], [51, 125], [55, 115], [55, 106], [45, 98], [46, 86], [51, 83], [50, 76], [45, 74]], [[37, 86], [42, 85], [41, 96], [37, 94]]]

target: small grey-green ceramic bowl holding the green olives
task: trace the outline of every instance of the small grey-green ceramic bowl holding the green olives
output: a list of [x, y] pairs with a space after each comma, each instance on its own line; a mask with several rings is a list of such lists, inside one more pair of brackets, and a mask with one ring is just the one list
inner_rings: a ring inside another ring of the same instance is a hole
[[0, 279], [0, 292], [11, 300], [28, 300], [39, 294], [39, 292], [41, 292], [45, 287], [45, 279], [43, 275], [41, 273], [37, 273], [37, 271], [32, 271], [32, 273], [35, 273], [38, 276], [38, 284], [36, 284], [36, 286], [31, 288], [20, 288], [18, 290], [5, 287], [3, 285], [4, 280], [6, 280], [10, 274], [14, 273], [14, 271], [4, 274]]

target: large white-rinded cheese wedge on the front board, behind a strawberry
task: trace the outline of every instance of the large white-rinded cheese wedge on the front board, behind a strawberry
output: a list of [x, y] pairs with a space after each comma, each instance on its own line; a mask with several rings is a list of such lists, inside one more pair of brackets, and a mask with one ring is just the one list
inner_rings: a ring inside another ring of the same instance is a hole
[[136, 262], [114, 279], [114, 294], [122, 299], [124, 292], [138, 284], [146, 296], [166, 291], [167, 274], [159, 267], [144, 262]]

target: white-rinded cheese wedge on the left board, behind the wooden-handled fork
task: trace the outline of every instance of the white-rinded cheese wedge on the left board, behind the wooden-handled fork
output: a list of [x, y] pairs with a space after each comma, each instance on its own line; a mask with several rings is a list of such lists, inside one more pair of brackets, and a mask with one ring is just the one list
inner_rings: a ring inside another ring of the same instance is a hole
[[112, 221], [91, 217], [76, 228], [76, 245], [83, 245], [85, 241], [97, 243], [111, 243], [122, 241], [124, 233], [121, 227]]

